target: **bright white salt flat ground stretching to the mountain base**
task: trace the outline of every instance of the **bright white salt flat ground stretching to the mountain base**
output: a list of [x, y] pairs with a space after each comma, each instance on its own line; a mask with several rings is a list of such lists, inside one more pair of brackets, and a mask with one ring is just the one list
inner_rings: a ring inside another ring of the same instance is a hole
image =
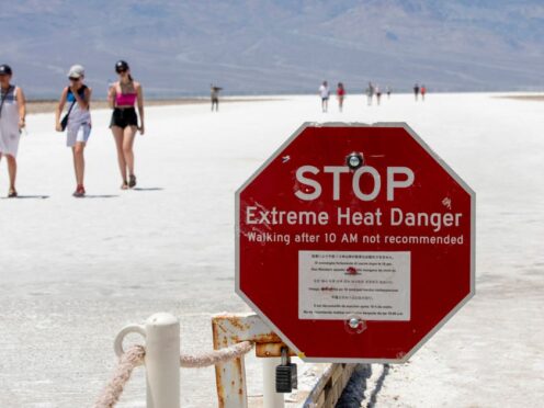
[[[212, 348], [209, 316], [234, 293], [234, 192], [306, 121], [407, 122], [477, 193], [477, 295], [408, 364], [360, 373], [352, 405], [539, 406], [544, 395], [544, 103], [412, 95], [366, 106], [317, 97], [154, 106], [135, 144], [138, 190], [121, 191], [109, 111], [94, 111], [88, 197], [50, 114], [27, 118], [20, 200], [0, 200], [0, 406], [91, 406], [122, 326], [165, 310], [182, 349]], [[8, 192], [5, 163], [0, 192]], [[135, 339], [138, 340], [137, 338]], [[250, 395], [259, 366], [248, 361]], [[143, 370], [122, 407], [145, 406]], [[216, 406], [212, 369], [182, 371], [182, 406]]]

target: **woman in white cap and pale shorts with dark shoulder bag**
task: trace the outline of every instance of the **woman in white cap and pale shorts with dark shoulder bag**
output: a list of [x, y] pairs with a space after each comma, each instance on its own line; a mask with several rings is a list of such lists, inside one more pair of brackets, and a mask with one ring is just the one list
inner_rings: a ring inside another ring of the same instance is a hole
[[[73, 170], [76, 172], [76, 191], [75, 197], [86, 195], [83, 186], [84, 179], [84, 156], [83, 151], [87, 141], [91, 136], [91, 93], [92, 90], [83, 83], [84, 68], [80, 65], [75, 65], [68, 71], [68, 80], [70, 84], [63, 89], [60, 100], [58, 101], [55, 113], [55, 128], [57, 132], [66, 129], [66, 145], [71, 147], [73, 155]], [[60, 118], [60, 114], [69, 103], [67, 114]]]

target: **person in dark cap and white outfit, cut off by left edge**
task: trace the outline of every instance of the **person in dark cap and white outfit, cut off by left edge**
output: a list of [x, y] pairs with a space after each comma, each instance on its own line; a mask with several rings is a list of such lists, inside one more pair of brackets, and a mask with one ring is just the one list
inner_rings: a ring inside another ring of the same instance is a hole
[[5, 156], [8, 160], [8, 173], [10, 177], [10, 189], [8, 197], [16, 197], [16, 154], [21, 129], [25, 126], [26, 102], [23, 90], [11, 83], [12, 70], [9, 65], [0, 65], [0, 159]]

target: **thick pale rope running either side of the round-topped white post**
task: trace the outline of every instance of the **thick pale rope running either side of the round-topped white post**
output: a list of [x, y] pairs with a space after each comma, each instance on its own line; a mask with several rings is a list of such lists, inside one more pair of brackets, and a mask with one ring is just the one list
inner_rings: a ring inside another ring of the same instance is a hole
[[[214, 350], [200, 355], [181, 354], [180, 366], [185, 369], [200, 369], [216, 365], [229, 360], [238, 359], [251, 351], [253, 344], [242, 341], [225, 349]], [[133, 345], [121, 355], [117, 367], [112, 379], [104, 388], [94, 408], [113, 408], [118, 403], [126, 383], [131, 379], [133, 370], [144, 364], [146, 349], [141, 345]]]

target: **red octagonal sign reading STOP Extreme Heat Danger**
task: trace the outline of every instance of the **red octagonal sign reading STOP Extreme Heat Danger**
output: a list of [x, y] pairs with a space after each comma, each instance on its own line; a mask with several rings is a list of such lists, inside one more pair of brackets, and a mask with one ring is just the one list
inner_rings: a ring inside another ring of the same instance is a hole
[[236, 193], [236, 291], [308, 361], [406, 361], [474, 294], [474, 207], [406, 124], [305, 124]]

